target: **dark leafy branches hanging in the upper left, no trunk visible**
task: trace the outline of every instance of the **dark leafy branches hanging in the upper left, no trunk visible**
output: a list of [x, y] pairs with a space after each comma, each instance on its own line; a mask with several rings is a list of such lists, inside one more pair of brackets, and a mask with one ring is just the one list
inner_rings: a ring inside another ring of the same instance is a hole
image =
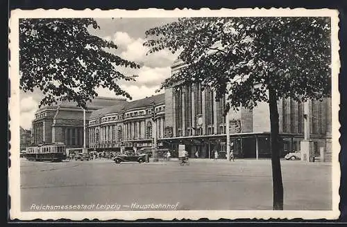
[[134, 80], [136, 75], [124, 75], [116, 67], [139, 65], [110, 53], [117, 46], [91, 35], [90, 28], [99, 28], [94, 19], [21, 19], [20, 89], [40, 89], [44, 95], [40, 106], [69, 100], [85, 107], [98, 96], [97, 87], [131, 98], [117, 82]]

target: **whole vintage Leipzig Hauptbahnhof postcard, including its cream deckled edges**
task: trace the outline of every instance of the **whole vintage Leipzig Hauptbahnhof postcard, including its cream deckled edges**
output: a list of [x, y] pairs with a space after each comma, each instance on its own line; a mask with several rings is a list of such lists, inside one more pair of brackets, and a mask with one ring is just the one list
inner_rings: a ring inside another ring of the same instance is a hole
[[338, 15], [13, 10], [10, 219], [337, 219]]

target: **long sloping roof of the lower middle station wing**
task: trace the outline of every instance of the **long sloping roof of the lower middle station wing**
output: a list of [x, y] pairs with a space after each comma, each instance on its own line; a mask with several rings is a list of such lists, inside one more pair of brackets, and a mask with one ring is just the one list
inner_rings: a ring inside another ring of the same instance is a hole
[[165, 94], [159, 94], [156, 96], [142, 98], [140, 100], [135, 100], [133, 102], [122, 102], [117, 105], [113, 105], [112, 107], [105, 107], [103, 109], [98, 109], [93, 111], [90, 115], [90, 119], [100, 118], [105, 116], [106, 114], [120, 113], [122, 111], [127, 111], [135, 108], [149, 107], [151, 106], [151, 102], [154, 102], [155, 105], [158, 105], [165, 101]]

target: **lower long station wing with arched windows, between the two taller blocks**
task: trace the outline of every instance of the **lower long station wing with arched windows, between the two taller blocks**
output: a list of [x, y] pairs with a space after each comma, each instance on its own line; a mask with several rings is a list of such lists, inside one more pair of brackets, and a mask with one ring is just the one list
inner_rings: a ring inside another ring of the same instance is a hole
[[[93, 111], [89, 120], [90, 148], [109, 152], [150, 148], [164, 137], [164, 94]], [[158, 143], [158, 146], [162, 146]]]

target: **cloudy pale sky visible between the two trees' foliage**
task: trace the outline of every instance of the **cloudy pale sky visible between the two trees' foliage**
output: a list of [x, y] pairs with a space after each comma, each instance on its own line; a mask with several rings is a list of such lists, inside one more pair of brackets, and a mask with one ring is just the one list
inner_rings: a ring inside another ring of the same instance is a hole
[[[170, 76], [170, 66], [177, 57], [169, 51], [146, 55], [148, 49], [142, 46], [144, 32], [149, 28], [176, 20], [175, 18], [96, 19], [100, 29], [90, 30], [93, 35], [115, 42], [118, 46], [118, 49], [113, 51], [115, 54], [143, 65], [141, 69], [136, 71], [124, 69], [124, 73], [139, 75], [136, 82], [121, 82], [121, 88], [130, 93], [133, 100], [155, 94], [155, 89], [158, 89], [160, 83]], [[115, 94], [108, 89], [97, 89], [97, 92], [99, 96], [115, 97]], [[21, 92], [20, 124], [24, 129], [31, 128], [31, 121], [34, 119], [35, 111], [37, 111], [41, 99], [40, 91]]]

